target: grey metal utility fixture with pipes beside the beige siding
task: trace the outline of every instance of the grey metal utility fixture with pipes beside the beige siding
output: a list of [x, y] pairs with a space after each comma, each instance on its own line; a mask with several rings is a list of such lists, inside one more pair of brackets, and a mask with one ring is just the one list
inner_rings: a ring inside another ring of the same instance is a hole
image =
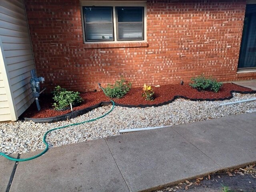
[[37, 106], [37, 110], [40, 110], [40, 105], [39, 105], [39, 101], [38, 101], [38, 97], [40, 95], [40, 93], [42, 93], [45, 88], [40, 92], [40, 82], [44, 83], [44, 78], [43, 77], [37, 77], [36, 76], [36, 70], [33, 69], [30, 71], [31, 74], [31, 79], [30, 79], [30, 86], [32, 89], [32, 95], [33, 97], [36, 98], [36, 106]]

